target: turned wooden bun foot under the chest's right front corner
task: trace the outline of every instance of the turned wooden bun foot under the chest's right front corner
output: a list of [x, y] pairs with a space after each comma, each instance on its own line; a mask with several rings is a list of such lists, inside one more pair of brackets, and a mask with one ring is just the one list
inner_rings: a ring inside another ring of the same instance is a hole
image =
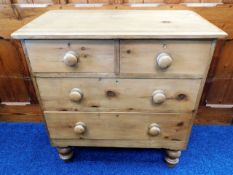
[[174, 167], [179, 163], [179, 158], [181, 156], [181, 151], [179, 150], [166, 150], [165, 162], [168, 167]]

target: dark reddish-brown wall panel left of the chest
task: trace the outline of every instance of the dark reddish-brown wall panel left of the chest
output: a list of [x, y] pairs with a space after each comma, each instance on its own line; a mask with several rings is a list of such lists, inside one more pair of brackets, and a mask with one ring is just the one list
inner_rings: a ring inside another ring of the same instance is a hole
[[2, 102], [27, 102], [29, 94], [23, 76], [22, 60], [14, 41], [0, 40], [0, 99]]

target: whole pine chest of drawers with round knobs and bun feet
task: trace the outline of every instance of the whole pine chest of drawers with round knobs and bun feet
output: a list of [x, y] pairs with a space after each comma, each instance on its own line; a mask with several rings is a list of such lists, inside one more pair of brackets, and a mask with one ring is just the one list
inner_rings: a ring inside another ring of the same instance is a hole
[[50, 11], [21, 39], [51, 143], [186, 148], [215, 41], [226, 33], [191, 11]]

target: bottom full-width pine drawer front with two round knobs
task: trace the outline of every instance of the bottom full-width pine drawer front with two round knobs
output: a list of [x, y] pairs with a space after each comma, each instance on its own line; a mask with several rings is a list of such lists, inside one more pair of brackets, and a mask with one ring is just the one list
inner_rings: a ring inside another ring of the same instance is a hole
[[45, 119], [51, 139], [185, 141], [191, 123], [190, 114], [46, 111]]

